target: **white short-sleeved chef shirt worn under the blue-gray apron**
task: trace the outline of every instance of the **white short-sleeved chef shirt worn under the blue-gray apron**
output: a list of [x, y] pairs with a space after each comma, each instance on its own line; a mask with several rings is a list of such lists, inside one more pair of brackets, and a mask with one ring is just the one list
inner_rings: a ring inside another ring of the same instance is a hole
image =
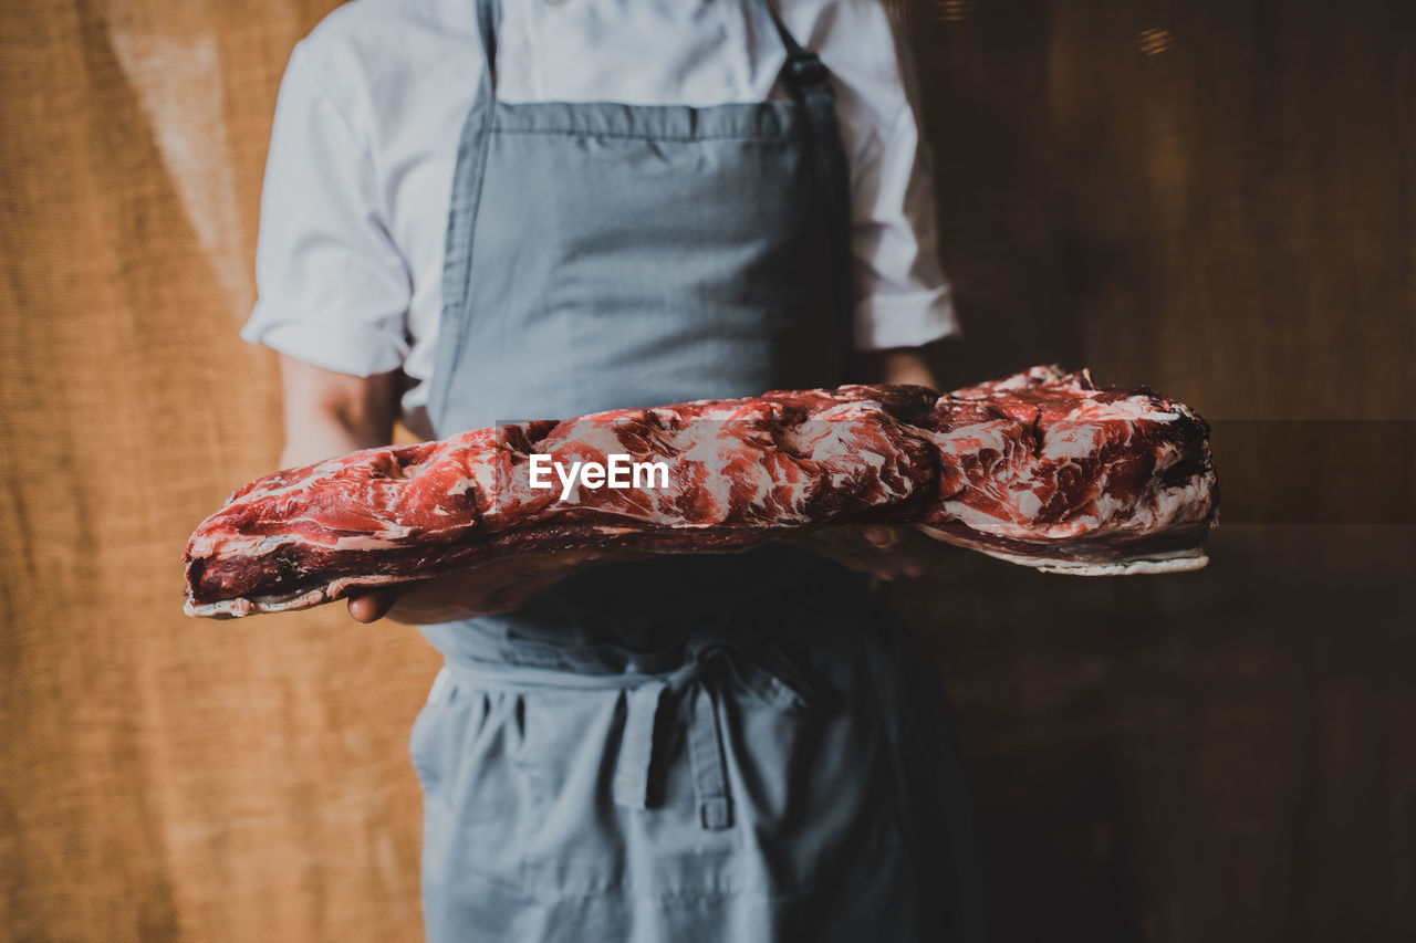
[[[851, 161], [857, 345], [957, 333], [908, 62], [885, 10], [775, 1], [834, 79]], [[507, 102], [786, 95], [763, 0], [501, 0], [501, 10], [496, 82]], [[360, 377], [401, 367], [413, 381], [405, 422], [428, 401], [453, 161], [480, 45], [474, 0], [354, 0], [296, 45], [276, 103], [259, 300], [242, 337]]]

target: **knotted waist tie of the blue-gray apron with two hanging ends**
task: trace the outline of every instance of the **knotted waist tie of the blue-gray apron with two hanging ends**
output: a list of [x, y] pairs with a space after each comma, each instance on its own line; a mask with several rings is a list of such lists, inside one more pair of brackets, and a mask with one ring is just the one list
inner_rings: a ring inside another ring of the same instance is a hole
[[666, 674], [583, 674], [524, 665], [447, 658], [447, 670], [484, 690], [524, 691], [535, 688], [624, 691], [626, 716], [615, 760], [615, 804], [623, 808], [650, 808], [650, 782], [664, 705], [687, 695], [687, 752], [692, 770], [698, 823], [705, 830], [732, 827], [732, 796], [724, 762], [722, 722], [718, 698], [711, 681], [722, 671], [736, 680], [755, 698], [784, 711], [810, 707], [806, 684], [775, 648], [748, 654], [731, 643], [698, 650], [683, 667]]

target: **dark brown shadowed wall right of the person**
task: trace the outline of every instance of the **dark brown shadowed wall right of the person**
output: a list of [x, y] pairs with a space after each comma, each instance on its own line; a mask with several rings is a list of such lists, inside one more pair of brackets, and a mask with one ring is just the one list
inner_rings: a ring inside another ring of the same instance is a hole
[[1416, 939], [1416, 4], [913, 3], [952, 379], [1215, 426], [1209, 569], [959, 554], [939, 651], [1001, 942]]

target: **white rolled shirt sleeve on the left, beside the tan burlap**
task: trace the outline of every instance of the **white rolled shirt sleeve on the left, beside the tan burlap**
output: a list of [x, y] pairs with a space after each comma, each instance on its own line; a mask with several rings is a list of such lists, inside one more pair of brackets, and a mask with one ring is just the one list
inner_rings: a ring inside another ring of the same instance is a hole
[[367, 143], [296, 45], [270, 135], [245, 340], [360, 377], [404, 364], [412, 278], [378, 193]]

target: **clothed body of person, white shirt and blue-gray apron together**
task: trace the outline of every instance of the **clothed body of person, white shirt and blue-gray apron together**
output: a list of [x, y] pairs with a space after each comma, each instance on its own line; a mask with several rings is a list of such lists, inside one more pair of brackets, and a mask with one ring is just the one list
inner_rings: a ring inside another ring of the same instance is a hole
[[[297, 78], [278, 109], [248, 337], [402, 368], [405, 406], [447, 435], [830, 385], [852, 345], [950, 333], [884, 13], [784, 14], [350, 4], [320, 62], [292, 64], [321, 67], [319, 93]], [[312, 174], [289, 170], [302, 116], [327, 125]], [[412, 736], [430, 940], [903, 940], [971, 920], [946, 899], [970, 888], [942, 704], [844, 571], [780, 548], [670, 556], [425, 633], [447, 660]]]

